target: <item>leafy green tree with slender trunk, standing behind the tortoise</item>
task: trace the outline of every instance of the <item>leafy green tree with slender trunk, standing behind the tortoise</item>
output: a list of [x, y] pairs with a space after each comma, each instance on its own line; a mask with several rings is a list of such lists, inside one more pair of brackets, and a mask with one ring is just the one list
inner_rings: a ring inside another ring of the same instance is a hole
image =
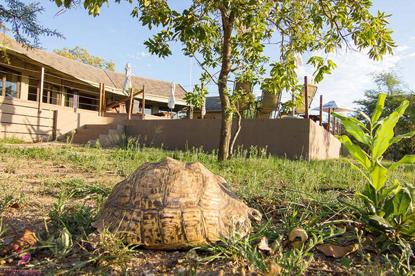
[[[114, 0], [120, 2], [121, 0]], [[132, 0], [125, 0], [132, 3]], [[100, 13], [109, 0], [55, 0], [58, 6], [82, 3], [89, 14]], [[194, 0], [173, 10], [165, 0], [138, 0], [131, 15], [143, 26], [158, 27], [145, 45], [158, 57], [172, 55], [170, 45], [181, 43], [184, 55], [203, 68], [201, 82], [218, 86], [222, 106], [219, 159], [230, 155], [232, 108], [228, 81], [261, 83], [269, 91], [298, 91], [295, 55], [312, 54], [315, 82], [322, 81], [335, 63], [328, 54], [341, 48], [367, 49], [372, 59], [392, 53], [394, 42], [384, 12], [369, 12], [368, 0]], [[270, 61], [267, 45], [279, 52]], [[264, 80], [266, 65], [270, 77]], [[262, 80], [262, 81], [261, 81]]]

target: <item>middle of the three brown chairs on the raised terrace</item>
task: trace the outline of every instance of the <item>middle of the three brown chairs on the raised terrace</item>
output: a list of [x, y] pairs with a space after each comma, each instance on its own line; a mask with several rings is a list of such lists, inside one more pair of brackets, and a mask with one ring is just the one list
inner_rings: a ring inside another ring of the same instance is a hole
[[266, 90], [262, 90], [261, 100], [257, 102], [257, 107], [255, 108], [255, 118], [277, 118], [282, 108], [281, 95], [282, 92], [277, 92], [277, 94], [273, 94]]

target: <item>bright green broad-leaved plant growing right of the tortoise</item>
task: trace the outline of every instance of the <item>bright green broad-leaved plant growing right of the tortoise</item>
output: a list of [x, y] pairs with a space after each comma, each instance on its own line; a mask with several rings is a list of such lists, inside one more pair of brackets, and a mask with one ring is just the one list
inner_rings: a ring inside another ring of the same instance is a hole
[[360, 146], [353, 144], [346, 135], [338, 137], [363, 170], [354, 164], [351, 166], [359, 170], [367, 180], [363, 190], [356, 193], [356, 197], [362, 199], [365, 204], [365, 210], [356, 208], [361, 213], [362, 219], [369, 228], [386, 234], [394, 242], [400, 241], [401, 238], [410, 241], [415, 239], [415, 189], [410, 184], [400, 184], [396, 179], [393, 184], [389, 183], [391, 184], [389, 188], [386, 184], [391, 172], [401, 164], [413, 164], [415, 155], [405, 155], [389, 167], [383, 166], [381, 161], [382, 155], [389, 146], [400, 139], [412, 137], [415, 131], [394, 137], [394, 128], [409, 106], [409, 101], [403, 101], [390, 115], [380, 119], [385, 107], [385, 99], [385, 94], [380, 95], [371, 117], [362, 113], [367, 120], [366, 125], [355, 118], [344, 117], [335, 112], [332, 114], [342, 120], [344, 128], [354, 139], [369, 148], [365, 152]]

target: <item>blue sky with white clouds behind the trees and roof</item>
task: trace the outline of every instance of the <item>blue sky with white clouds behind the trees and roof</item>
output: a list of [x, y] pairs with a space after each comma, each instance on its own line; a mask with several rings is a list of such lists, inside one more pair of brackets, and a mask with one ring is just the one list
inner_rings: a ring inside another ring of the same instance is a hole
[[[29, 3], [31, 1], [24, 0]], [[3, 2], [0, 0], [0, 3]], [[133, 1], [134, 2], [134, 1]], [[185, 6], [186, 1], [172, 1], [174, 8]], [[175, 81], [189, 90], [192, 85], [198, 83], [201, 70], [189, 57], [181, 53], [181, 46], [172, 47], [173, 55], [167, 59], [158, 59], [147, 52], [143, 42], [151, 37], [155, 30], [150, 31], [141, 26], [140, 22], [129, 14], [133, 8], [129, 3], [111, 3], [109, 8], [102, 8], [99, 17], [92, 17], [83, 9], [68, 10], [64, 14], [55, 17], [59, 11], [49, 0], [43, 0], [42, 5], [46, 11], [39, 16], [39, 21], [48, 28], [56, 28], [62, 32], [66, 39], [56, 37], [42, 37], [42, 47], [52, 51], [55, 48], [82, 46], [91, 54], [97, 55], [116, 63], [116, 71], [124, 72], [127, 61], [131, 63], [133, 75], [160, 79], [163, 81]], [[327, 75], [319, 83], [317, 97], [322, 94], [324, 102], [338, 100], [349, 106], [354, 106], [353, 101], [363, 97], [365, 90], [374, 88], [370, 72], [387, 70], [394, 66], [400, 68], [400, 74], [407, 82], [409, 88], [415, 89], [415, 10], [414, 0], [374, 0], [372, 12], [377, 10], [392, 14], [389, 17], [390, 28], [394, 30], [392, 35], [398, 48], [394, 56], [385, 56], [382, 61], [371, 61], [363, 52], [343, 52], [341, 55], [333, 55], [331, 59], [337, 63], [338, 68], [332, 75]], [[271, 47], [271, 46], [270, 46]], [[267, 48], [271, 58], [277, 59], [277, 50], [273, 55], [273, 49]], [[303, 60], [308, 60], [309, 55], [304, 55]], [[190, 66], [192, 64], [192, 80], [190, 81]], [[313, 68], [302, 66], [300, 76], [308, 75], [311, 78]], [[257, 89], [257, 88], [256, 88]], [[216, 86], [209, 86], [210, 95], [217, 95]], [[259, 92], [259, 91], [257, 91]], [[284, 99], [288, 95], [283, 95]], [[315, 100], [312, 106], [317, 106]]]

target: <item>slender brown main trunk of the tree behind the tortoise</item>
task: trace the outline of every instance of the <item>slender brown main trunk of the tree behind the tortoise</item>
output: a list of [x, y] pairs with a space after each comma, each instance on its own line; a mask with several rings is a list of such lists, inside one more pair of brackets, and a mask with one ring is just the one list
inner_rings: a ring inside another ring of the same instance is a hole
[[228, 94], [228, 75], [230, 72], [231, 36], [233, 28], [233, 14], [228, 15], [224, 8], [220, 8], [223, 26], [222, 67], [218, 79], [219, 97], [222, 106], [221, 139], [219, 141], [218, 159], [226, 160], [229, 156], [230, 132], [232, 130], [232, 112]]

